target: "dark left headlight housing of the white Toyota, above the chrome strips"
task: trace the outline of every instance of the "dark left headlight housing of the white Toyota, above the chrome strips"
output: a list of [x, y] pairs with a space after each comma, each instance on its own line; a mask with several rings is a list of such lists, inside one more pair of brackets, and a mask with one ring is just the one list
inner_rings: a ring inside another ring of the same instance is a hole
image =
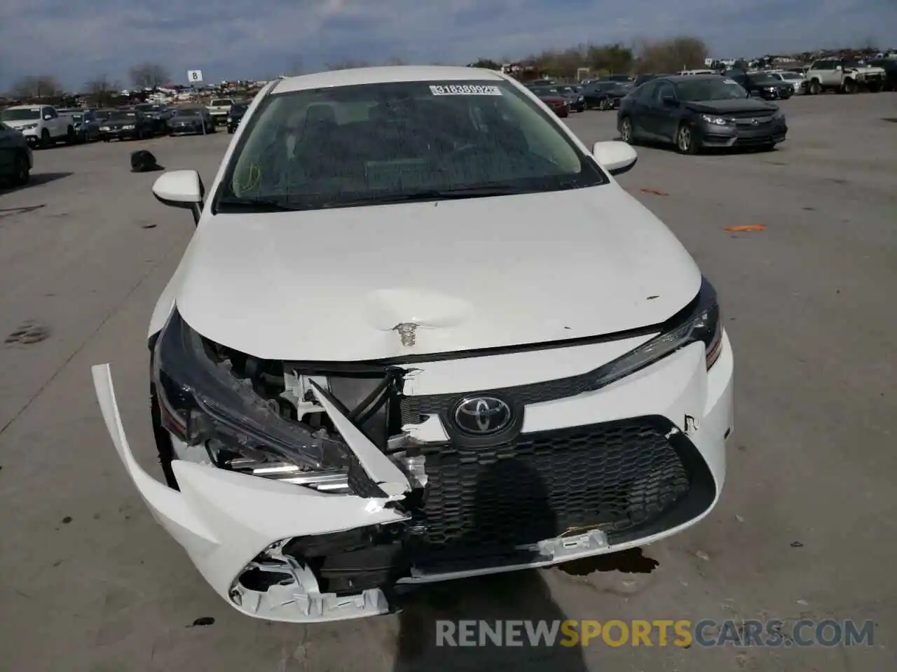
[[249, 460], [309, 475], [348, 468], [341, 441], [284, 418], [276, 401], [232, 373], [229, 361], [216, 360], [177, 310], [153, 345], [151, 375], [161, 426], [187, 445], [204, 446], [218, 467]]

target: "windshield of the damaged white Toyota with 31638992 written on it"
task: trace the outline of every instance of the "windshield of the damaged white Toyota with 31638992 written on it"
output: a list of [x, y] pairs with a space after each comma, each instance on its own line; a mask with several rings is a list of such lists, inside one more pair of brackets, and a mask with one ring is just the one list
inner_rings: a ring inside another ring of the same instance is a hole
[[512, 84], [388, 82], [267, 96], [215, 208], [317, 210], [607, 181]]

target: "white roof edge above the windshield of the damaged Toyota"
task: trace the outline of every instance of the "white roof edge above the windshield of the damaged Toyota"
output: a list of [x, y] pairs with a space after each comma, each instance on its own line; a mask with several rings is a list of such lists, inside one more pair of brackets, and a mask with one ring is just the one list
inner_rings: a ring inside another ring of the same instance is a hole
[[349, 68], [327, 73], [302, 74], [287, 77], [274, 86], [271, 93], [286, 93], [307, 89], [357, 84], [386, 84], [392, 82], [429, 82], [431, 80], [506, 80], [500, 73], [484, 68], [459, 65], [381, 65], [370, 68]]

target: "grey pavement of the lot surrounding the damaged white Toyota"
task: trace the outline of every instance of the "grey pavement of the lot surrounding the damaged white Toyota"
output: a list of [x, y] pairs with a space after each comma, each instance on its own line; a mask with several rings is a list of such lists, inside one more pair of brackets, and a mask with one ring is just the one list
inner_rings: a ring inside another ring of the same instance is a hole
[[[161, 475], [146, 328], [193, 224], [153, 199], [158, 174], [130, 173], [128, 155], [150, 149], [208, 185], [231, 136], [35, 152], [32, 184], [0, 191], [0, 670], [893, 668], [897, 94], [782, 107], [790, 133], [777, 151], [639, 148], [620, 178], [723, 302], [736, 426], [710, 518], [639, 552], [451, 582], [415, 593], [395, 616], [309, 626], [241, 616], [213, 593], [126, 478], [91, 385], [90, 366], [111, 362], [128, 438]], [[616, 135], [614, 113], [567, 123], [589, 143]], [[872, 619], [875, 638], [833, 648], [435, 646], [438, 618], [774, 617]]]

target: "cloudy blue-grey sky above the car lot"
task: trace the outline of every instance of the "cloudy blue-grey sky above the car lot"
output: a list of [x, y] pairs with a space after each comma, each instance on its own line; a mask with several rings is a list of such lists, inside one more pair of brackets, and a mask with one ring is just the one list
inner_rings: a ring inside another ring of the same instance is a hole
[[268, 79], [341, 60], [463, 65], [579, 43], [700, 37], [718, 58], [897, 47], [897, 0], [0, 0], [0, 91], [29, 74], [70, 89], [130, 66], [174, 82]]

